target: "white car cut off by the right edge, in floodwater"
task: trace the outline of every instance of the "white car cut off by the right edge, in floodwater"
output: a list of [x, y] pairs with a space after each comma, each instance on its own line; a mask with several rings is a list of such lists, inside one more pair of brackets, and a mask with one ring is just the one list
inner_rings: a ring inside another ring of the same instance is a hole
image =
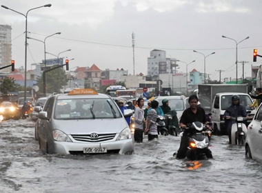
[[262, 163], [262, 105], [259, 106], [254, 118], [248, 125], [245, 138], [245, 157]]

